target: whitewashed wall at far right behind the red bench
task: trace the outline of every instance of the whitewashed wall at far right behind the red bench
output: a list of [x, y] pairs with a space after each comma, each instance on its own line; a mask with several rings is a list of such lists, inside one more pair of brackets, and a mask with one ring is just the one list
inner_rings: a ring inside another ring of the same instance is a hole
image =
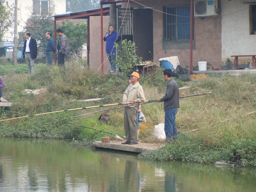
[[[244, 0], [221, 0], [221, 61], [225, 65], [231, 55], [255, 55], [256, 35], [250, 35], [249, 4]], [[240, 57], [239, 63], [252, 62]]]

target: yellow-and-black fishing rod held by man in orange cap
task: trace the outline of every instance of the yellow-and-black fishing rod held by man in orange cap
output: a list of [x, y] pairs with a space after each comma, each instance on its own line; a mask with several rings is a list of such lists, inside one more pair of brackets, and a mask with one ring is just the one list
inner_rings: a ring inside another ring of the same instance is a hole
[[[148, 100], [148, 101], [145, 101], [145, 102], [151, 102], [151, 101], [157, 101], [157, 100]], [[142, 102], [142, 103], [144, 103], [144, 102]], [[142, 103], [140, 103], [140, 104], [142, 104]], [[11, 118], [11, 119], [3, 119], [3, 120], [0, 120], [0, 122], [1, 121], [13, 120], [13, 119], [21, 119], [21, 118], [31, 117], [31, 116], [39, 116], [39, 115], [46, 115], [46, 114], [52, 114], [52, 113], [65, 112], [65, 111], [75, 111], [75, 110], [80, 110], [80, 109], [107, 107], [107, 106], [112, 106], [112, 105], [124, 105], [124, 104], [130, 104], [130, 102], [114, 103], [114, 104], [107, 104], [107, 105], [95, 105], [95, 106], [83, 107], [83, 108], [66, 109], [66, 110], [61, 110], [61, 111], [52, 111], [52, 112], [47, 112], [47, 113], [39, 113], [39, 114], [34, 114], [34, 115], [20, 116], [20, 117], [15, 117], [15, 118]]]

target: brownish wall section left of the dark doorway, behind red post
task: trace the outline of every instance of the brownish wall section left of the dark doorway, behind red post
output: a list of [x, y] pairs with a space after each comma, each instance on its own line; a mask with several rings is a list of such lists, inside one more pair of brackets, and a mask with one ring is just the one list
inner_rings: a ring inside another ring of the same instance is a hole
[[[108, 32], [109, 16], [103, 16], [103, 35]], [[90, 17], [90, 69], [101, 73], [101, 24], [100, 16]], [[106, 42], [103, 41], [103, 69], [104, 73], [109, 71], [109, 61], [105, 50]]]

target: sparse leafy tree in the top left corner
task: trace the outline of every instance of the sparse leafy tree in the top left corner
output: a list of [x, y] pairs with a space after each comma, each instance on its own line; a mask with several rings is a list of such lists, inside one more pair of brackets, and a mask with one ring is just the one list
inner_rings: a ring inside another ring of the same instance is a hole
[[0, 41], [3, 40], [3, 35], [13, 26], [14, 23], [14, 8], [9, 6], [8, 2], [0, 5]]

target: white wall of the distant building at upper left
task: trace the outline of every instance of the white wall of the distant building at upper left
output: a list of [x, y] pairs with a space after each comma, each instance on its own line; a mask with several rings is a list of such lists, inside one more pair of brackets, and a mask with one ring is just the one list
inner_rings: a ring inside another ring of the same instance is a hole
[[[15, 0], [6, 0], [9, 3], [9, 6], [15, 4]], [[17, 19], [18, 26], [17, 31], [21, 32], [27, 19], [31, 16], [33, 10], [33, 0], [17, 0]], [[50, 0], [50, 10], [51, 15], [63, 14], [66, 12], [66, 0]], [[14, 12], [14, 9], [13, 9]], [[12, 29], [9, 29], [9, 32], [6, 33], [3, 37], [3, 41], [13, 41], [14, 38], [14, 26]]]

